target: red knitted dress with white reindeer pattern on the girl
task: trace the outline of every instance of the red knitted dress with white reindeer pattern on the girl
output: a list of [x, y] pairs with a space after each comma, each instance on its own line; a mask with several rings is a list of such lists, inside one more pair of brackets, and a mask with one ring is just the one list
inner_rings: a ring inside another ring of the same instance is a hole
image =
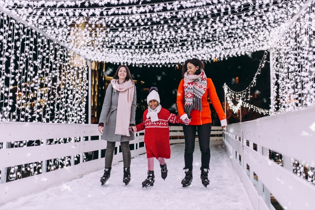
[[146, 129], [144, 143], [146, 145], [146, 157], [170, 158], [171, 148], [169, 146], [169, 123], [183, 123], [180, 116], [169, 113], [167, 109], [161, 108], [157, 114], [158, 121], [151, 122], [147, 119], [148, 109], [143, 113], [143, 122], [136, 125], [137, 131]]

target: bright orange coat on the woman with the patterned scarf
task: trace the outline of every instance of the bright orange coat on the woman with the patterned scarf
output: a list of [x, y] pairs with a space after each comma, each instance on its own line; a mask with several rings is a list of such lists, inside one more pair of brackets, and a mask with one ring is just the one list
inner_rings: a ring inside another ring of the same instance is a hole
[[[226, 116], [224, 114], [222, 105], [220, 103], [220, 100], [218, 98], [218, 95], [215, 92], [215, 86], [210, 78], [207, 78], [207, 90], [204, 92], [202, 96], [202, 111], [193, 109], [190, 113], [191, 122], [189, 125], [202, 125], [206, 123], [211, 123], [211, 111], [209, 107], [209, 103], [207, 102], [207, 95], [209, 95], [209, 98], [215, 108], [215, 111], [217, 112], [219, 119], [224, 120], [226, 119]], [[184, 79], [180, 81], [178, 91], [177, 91], [177, 109], [179, 116], [182, 116], [185, 114], [184, 111], [184, 103], [185, 103], [185, 90], [184, 90]]]

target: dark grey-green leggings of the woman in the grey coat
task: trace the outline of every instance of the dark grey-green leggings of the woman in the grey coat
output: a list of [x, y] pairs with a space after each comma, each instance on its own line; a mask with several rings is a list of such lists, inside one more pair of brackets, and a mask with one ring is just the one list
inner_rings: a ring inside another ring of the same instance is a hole
[[[112, 166], [116, 142], [107, 141], [107, 148], [105, 153], [105, 167]], [[123, 167], [130, 167], [131, 152], [129, 148], [129, 141], [120, 142], [121, 151], [123, 152]]]

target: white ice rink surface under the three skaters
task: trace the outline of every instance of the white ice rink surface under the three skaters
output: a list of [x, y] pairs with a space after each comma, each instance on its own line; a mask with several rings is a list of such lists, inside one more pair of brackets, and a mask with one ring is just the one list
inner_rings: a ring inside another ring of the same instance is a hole
[[184, 144], [171, 145], [171, 158], [166, 159], [169, 169], [165, 181], [155, 160], [155, 183], [143, 190], [146, 178], [146, 154], [131, 160], [131, 182], [123, 183], [123, 163], [112, 167], [111, 177], [101, 187], [103, 170], [83, 175], [54, 187], [20, 197], [0, 206], [2, 209], [253, 209], [222, 141], [211, 141], [210, 184], [204, 188], [200, 180], [198, 142], [194, 152], [192, 185], [183, 189]]

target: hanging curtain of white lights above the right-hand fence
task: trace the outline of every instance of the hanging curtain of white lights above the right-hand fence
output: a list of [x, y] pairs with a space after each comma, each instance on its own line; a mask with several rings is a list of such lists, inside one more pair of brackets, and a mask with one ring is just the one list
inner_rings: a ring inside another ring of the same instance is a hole
[[315, 1], [272, 48], [273, 111], [315, 104]]

